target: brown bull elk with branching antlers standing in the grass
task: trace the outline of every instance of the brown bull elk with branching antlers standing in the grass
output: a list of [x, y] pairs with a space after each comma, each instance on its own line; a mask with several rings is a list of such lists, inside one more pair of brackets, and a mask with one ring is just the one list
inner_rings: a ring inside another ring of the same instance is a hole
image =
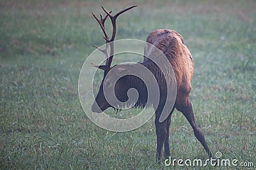
[[[102, 17], [100, 15], [100, 18], [97, 18], [93, 13], [93, 17], [99, 22], [99, 25], [104, 33], [104, 39], [106, 40], [106, 48], [104, 50], [98, 48], [101, 52], [104, 53], [106, 56], [106, 64], [96, 66], [93, 64], [93, 66], [98, 67], [99, 69], [104, 70], [104, 78], [102, 80], [102, 83], [99, 88], [99, 92], [95, 98], [95, 101], [92, 105], [92, 111], [101, 113], [102, 111], [106, 110], [109, 107], [115, 108], [114, 106], [111, 106], [111, 104], [108, 103], [106, 100], [106, 97], [104, 96], [103, 92], [103, 86], [106, 85], [106, 75], [113, 69], [111, 67], [111, 62], [113, 60], [114, 55], [114, 40], [116, 36], [116, 18], [124, 13], [125, 11], [131, 10], [136, 6], [131, 6], [129, 8], [126, 8], [125, 10], [122, 10], [115, 15], [111, 15], [111, 11], [107, 11], [104, 7], [102, 9], [105, 11], [106, 16]], [[105, 22], [107, 18], [110, 18], [111, 23], [113, 25], [113, 32], [111, 37], [108, 36], [108, 32], [105, 28]], [[169, 127], [171, 122], [171, 116], [173, 113], [173, 110], [175, 108], [182, 112], [182, 114], [186, 117], [189, 124], [193, 128], [194, 134], [198, 141], [204, 146], [205, 151], [209, 155], [209, 157], [212, 157], [211, 150], [209, 150], [209, 147], [207, 146], [207, 143], [205, 142], [204, 134], [198, 127], [198, 125], [195, 122], [195, 116], [193, 113], [191, 102], [189, 101], [189, 92], [191, 91], [191, 79], [193, 76], [193, 59], [191, 57], [191, 53], [189, 52], [186, 45], [184, 45], [184, 41], [182, 36], [176, 31], [170, 30], [170, 29], [157, 29], [156, 31], [150, 32], [150, 34], [147, 37], [147, 43], [150, 43], [161, 52], [164, 53], [165, 57], [168, 59], [170, 64], [172, 65], [172, 69], [175, 74], [175, 78], [177, 81], [177, 94], [175, 98], [175, 103], [173, 108], [170, 110], [170, 114], [168, 117], [163, 121], [159, 122], [159, 117], [161, 115], [161, 110], [163, 110], [163, 103], [166, 100], [166, 83], [162, 83], [163, 80], [163, 73], [159, 69], [159, 67], [152, 62], [152, 60], [147, 59], [147, 57], [144, 57], [143, 62], [138, 62], [138, 64], [141, 64], [142, 66], [147, 67], [148, 70], [150, 70], [159, 85], [159, 91], [160, 91], [160, 101], [158, 106], [154, 107], [155, 110], [155, 125], [156, 125], [156, 136], [157, 136], [157, 152], [156, 152], [156, 160], [160, 161], [162, 157], [162, 151], [163, 151], [163, 145], [164, 145], [164, 155], [165, 157], [170, 156], [170, 146], [169, 146]], [[110, 52], [108, 52], [110, 46]], [[147, 50], [147, 48], [145, 48]], [[145, 51], [147, 53], [147, 51]], [[170, 68], [170, 64], [166, 64], [166, 67]], [[120, 65], [120, 64], [119, 64]], [[119, 66], [117, 65], [117, 66]], [[125, 64], [123, 64], [125, 66]], [[128, 65], [128, 64], [127, 64]], [[129, 67], [129, 66], [127, 66]], [[115, 73], [113, 73], [115, 74]], [[117, 73], [116, 73], [117, 74]], [[110, 80], [109, 80], [110, 81]], [[147, 88], [145, 88], [145, 84], [140, 80], [139, 78], [136, 78], [132, 75], [126, 75], [120, 78], [118, 81], [116, 81], [115, 84], [115, 94], [118, 100], [120, 101], [127, 101], [127, 90], [134, 88], [138, 90], [139, 98], [136, 104], [134, 104], [134, 107], [144, 107], [145, 103], [147, 103]], [[118, 110], [118, 108], [115, 108]]]

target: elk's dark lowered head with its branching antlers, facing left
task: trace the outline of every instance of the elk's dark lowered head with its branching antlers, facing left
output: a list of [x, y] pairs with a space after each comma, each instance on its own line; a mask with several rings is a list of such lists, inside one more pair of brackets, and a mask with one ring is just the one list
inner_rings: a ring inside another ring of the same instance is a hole
[[[111, 81], [111, 78], [108, 78], [109, 80], [106, 80], [107, 79], [106, 75], [109, 73], [109, 71], [111, 71], [111, 68], [112, 68], [111, 67], [111, 62], [113, 60], [113, 55], [114, 55], [114, 40], [115, 40], [115, 36], [116, 36], [116, 18], [120, 14], [124, 13], [125, 11], [131, 10], [134, 7], [136, 7], [136, 6], [131, 6], [129, 8], [125, 8], [124, 10], [119, 11], [115, 15], [111, 15], [112, 11], [107, 11], [104, 7], [102, 7], [102, 9], [106, 13], [106, 16], [104, 18], [102, 17], [102, 15], [100, 15], [100, 18], [97, 18], [94, 15], [94, 13], [92, 13], [93, 17], [99, 23], [99, 25], [100, 25], [103, 33], [104, 33], [104, 39], [106, 40], [106, 47], [105, 47], [104, 50], [100, 49], [98, 46], [95, 45], [95, 47], [98, 50], [100, 50], [102, 53], [104, 53], [104, 55], [106, 57], [106, 64], [105, 65], [100, 65], [100, 66], [92, 64], [94, 67], [98, 67], [99, 69], [104, 70], [104, 77], [103, 77], [103, 80], [100, 84], [99, 92], [96, 96], [96, 99], [95, 99], [93, 105], [92, 105], [92, 111], [93, 112], [101, 113], [102, 111], [106, 110], [109, 107], [114, 108], [116, 110], [116, 112], [118, 111], [117, 108], [115, 108], [114, 106], [111, 106], [111, 104], [109, 104], [108, 101], [106, 100], [106, 97], [104, 95], [104, 90], [103, 90], [104, 88], [103, 87], [106, 87], [106, 89], [108, 89], [111, 86], [112, 87], [115, 86], [115, 89], [124, 87], [122, 85], [122, 83], [124, 83], [124, 81], [117, 81], [116, 84], [113, 84], [113, 82]], [[108, 17], [111, 19], [111, 23], [112, 23], [112, 26], [113, 26], [113, 32], [112, 32], [111, 38], [109, 38], [108, 32], [106, 31], [106, 28], [105, 28], [105, 22], [106, 22]], [[110, 46], [110, 53], [108, 52], [109, 46]], [[120, 67], [119, 69], [117, 69], [117, 72], [111, 73], [111, 75], [118, 76], [118, 71], [122, 72], [124, 70], [122, 69], [122, 67]], [[124, 92], [124, 90], [121, 90], [121, 91]], [[120, 96], [126, 96], [126, 94], [119, 94], [119, 95]], [[125, 101], [125, 98], [123, 98], [122, 100]]]

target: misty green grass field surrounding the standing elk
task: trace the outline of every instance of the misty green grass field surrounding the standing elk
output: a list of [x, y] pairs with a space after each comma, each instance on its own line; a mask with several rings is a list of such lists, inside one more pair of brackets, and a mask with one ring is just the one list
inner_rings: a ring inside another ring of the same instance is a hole
[[[195, 62], [191, 103], [209, 147], [223, 159], [254, 165], [207, 169], [255, 169], [253, 0], [1, 1], [0, 169], [181, 168], [155, 163], [154, 118], [135, 131], [109, 132], [93, 124], [79, 103], [79, 71], [93, 45], [104, 43], [91, 12], [102, 13], [104, 5], [115, 13], [133, 4], [138, 7], [117, 20], [116, 39], [178, 31]], [[170, 142], [173, 159], [207, 159], [178, 111]]]

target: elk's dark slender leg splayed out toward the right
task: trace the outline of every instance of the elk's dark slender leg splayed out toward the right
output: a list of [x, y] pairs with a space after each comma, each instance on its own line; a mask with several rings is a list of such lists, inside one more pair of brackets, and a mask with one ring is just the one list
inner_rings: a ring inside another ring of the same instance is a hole
[[212, 152], [209, 149], [209, 147], [205, 141], [204, 134], [195, 122], [195, 115], [193, 113], [192, 104], [190, 103], [189, 99], [187, 100], [185, 106], [182, 106], [177, 109], [179, 111], [181, 111], [183, 113], [183, 115], [187, 118], [189, 124], [193, 128], [196, 139], [198, 139], [198, 141], [200, 141], [200, 143], [204, 146], [204, 149], [207, 152], [207, 154], [209, 155], [209, 157], [212, 157]]

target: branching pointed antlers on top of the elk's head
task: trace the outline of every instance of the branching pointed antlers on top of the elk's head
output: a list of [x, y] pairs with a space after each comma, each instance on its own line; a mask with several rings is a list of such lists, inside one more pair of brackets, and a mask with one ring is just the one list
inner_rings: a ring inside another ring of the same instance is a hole
[[[106, 75], [106, 73], [108, 73], [110, 67], [111, 67], [111, 62], [113, 60], [113, 55], [114, 55], [114, 43], [113, 41], [115, 40], [115, 36], [116, 36], [116, 18], [124, 13], [125, 11], [128, 11], [128, 10], [131, 10], [132, 8], [134, 8], [136, 6], [131, 6], [129, 8], [125, 8], [124, 10], [116, 13], [114, 16], [111, 15], [111, 12], [112, 11], [107, 11], [103, 6], [101, 6], [101, 8], [105, 11], [106, 13], [106, 16], [104, 18], [102, 18], [102, 15], [100, 15], [100, 19], [97, 18], [94, 13], [92, 13], [93, 17], [97, 20], [97, 22], [99, 22], [99, 25], [104, 33], [104, 39], [106, 39], [106, 47], [105, 47], [105, 50], [101, 50], [98, 46], [94, 45], [98, 50], [100, 50], [101, 52], [103, 52], [106, 56], [106, 65], [105, 66], [95, 66], [93, 64], [93, 66], [95, 67], [99, 67], [100, 69], [103, 69], [104, 68], [104, 75]], [[110, 18], [111, 19], [111, 23], [112, 23], [112, 26], [113, 26], [113, 32], [112, 32], [112, 36], [111, 36], [111, 39], [109, 39], [109, 36], [108, 36], [108, 32], [106, 31], [106, 28], [105, 28], [105, 21], [107, 18]], [[108, 53], [108, 45], [110, 45], [110, 54]]]

